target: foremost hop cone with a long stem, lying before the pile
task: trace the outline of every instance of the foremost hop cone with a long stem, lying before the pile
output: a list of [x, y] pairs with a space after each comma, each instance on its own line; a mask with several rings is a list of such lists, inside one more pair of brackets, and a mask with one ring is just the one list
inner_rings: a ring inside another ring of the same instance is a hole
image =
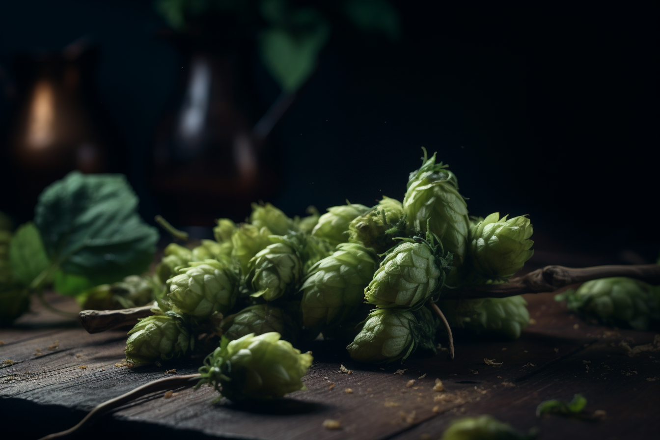
[[312, 354], [300, 353], [280, 337], [277, 332], [232, 341], [223, 336], [199, 369], [197, 387], [212, 384], [234, 402], [281, 398], [305, 389], [302, 377], [312, 365]]

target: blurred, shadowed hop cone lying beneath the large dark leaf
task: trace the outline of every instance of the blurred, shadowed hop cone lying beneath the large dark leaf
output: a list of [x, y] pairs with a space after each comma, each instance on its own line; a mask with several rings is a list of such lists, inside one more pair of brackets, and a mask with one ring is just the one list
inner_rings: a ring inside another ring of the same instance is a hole
[[112, 284], [82, 292], [82, 309], [116, 310], [139, 307], [152, 301], [154, 286], [147, 277], [131, 275]]

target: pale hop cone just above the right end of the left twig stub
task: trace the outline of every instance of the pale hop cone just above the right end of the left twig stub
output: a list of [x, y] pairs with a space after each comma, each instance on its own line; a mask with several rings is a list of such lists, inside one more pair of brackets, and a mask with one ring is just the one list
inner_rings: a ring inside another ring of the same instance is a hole
[[191, 264], [168, 281], [172, 303], [183, 313], [201, 318], [229, 311], [238, 292], [236, 272], [216, 260]]

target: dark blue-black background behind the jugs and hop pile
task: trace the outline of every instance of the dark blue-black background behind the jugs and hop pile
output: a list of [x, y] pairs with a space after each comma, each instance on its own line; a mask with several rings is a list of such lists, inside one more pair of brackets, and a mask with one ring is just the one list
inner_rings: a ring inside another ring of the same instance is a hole
[[[655, 261], [658, 36], [650, 9], [395, 5], [398, 44], [331, 39], [321, 53], [273, 133], [284, 169], [269, 201], [294, 215], [310, 204], [323, 212], [345, 199], [402, 199], [425, 146], [457, 174], [471, 214], [530, 215], [539, 263], [570, 264], [567, 253], [580, 263]], [[158, 212], [143, 178], [147, 151], [181, 64], [155, 37], [163, 27], [150, 1], [0, 1], [5, 91], [16, 80], [16, 53], [61, 49], [81, 36], [96, 42], [94, 90], [118, 139], [117, 171], [127, 173], [147, 219]], [[279, 90], [254, 65], [265, 110]], [[0, 148], [10, 98], [0, 99]], [[16, 191], [20, 181], [3, 180], [0, 210], [12, 212]]]

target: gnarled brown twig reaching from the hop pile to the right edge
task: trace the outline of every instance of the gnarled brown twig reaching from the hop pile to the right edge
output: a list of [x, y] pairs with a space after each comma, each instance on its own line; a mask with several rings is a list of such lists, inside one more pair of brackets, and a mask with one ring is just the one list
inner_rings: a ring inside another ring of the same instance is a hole
[[513, 278], [505, 284], [486, 284], [484, 286], [463, 286], [447, 289], [441, 299], [505, 298], [521, 294], [540, 294], [554, 292], [570, 286], [609, 276], [628, 276], [650, 284], [660, 284], [660, 265], [621, 265], [572, 268], [546, 266]]

